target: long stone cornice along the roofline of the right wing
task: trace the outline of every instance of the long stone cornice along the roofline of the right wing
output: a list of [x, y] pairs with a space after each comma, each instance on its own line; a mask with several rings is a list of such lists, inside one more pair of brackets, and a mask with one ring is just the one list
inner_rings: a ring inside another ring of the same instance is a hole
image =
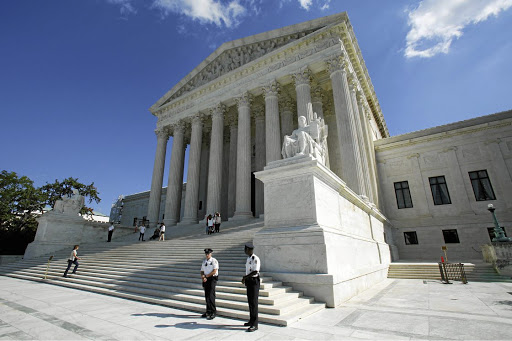
[[374, 141], [376, 151], [413, 146], [512, 126], [512, 110]]

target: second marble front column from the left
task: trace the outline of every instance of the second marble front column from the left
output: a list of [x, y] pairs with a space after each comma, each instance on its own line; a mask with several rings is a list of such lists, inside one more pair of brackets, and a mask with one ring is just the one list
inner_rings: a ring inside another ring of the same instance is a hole
[[183, 146], [185, 138], [185, 126], [177, 123], [173, 126], [173, 139], [171, 162], [169, 164], [169, 181], [167, 183], [167, 195], [165, 199], [165, 225], [176, 225], [179, 221], [178, 205], [181, 201], [180, 184], [183, 185], [183, 173], [181, 172], [185, 150]]

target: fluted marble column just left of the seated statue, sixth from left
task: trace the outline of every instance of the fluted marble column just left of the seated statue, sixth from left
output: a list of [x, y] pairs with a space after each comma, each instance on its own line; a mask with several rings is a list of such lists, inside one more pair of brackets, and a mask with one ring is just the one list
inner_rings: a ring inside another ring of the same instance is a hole
[[[279, 105], [277, 95], [279, 84], [273, 80], [267, 86], [263, 87], [263, 96], [265, 97], [265, 142], [266, 146], [264, 166], [271, 161], [281, 159], [281, 132], [279, 128]], [[258, 146], [256, 142], [256, 146]], [[257, 169], [257, 170], [263, 170]], [[259, 181], [259, 180], [257, 180]]]

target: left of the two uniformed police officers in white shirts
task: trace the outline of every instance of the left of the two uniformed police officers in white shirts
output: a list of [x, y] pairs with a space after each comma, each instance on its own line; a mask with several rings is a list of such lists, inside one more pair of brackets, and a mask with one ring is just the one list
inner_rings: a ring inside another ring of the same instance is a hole
[[204, 249], [206, 259], [201, 265], [201, 279], [203, 281], [204, 298], [206, 299], [206, 312], [201, 317], [213, 320], [217, 315], [215, 306], [215, 287], [219, 279], [219, 262], [212, 257], [212, 249]]

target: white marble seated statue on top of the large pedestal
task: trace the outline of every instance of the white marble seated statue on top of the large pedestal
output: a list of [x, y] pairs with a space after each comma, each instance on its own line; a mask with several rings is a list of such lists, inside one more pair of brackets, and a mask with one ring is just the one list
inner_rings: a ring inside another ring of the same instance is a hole
[[281, 154], [283, 159], [297, 155], [312, 155], [325, 166], [328, 126], [313, 112], [311, 103], [308, 103], [308, 117], [311, 120], [309, 125], [306, 117], [300, 116], [299, 127], [291, 135], [284, 136]]

